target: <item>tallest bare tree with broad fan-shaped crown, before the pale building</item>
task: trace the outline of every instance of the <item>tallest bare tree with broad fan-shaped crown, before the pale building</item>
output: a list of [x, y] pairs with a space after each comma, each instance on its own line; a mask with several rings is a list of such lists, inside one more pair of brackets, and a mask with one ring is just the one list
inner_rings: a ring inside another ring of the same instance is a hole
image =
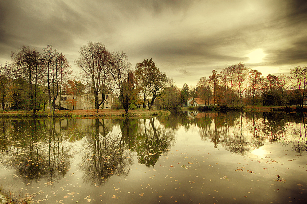
[[[91, 86], [98, 112], [99, 106], [104, 104], [110, 93], [114, 60], [107, 47], [100, 42], [89, 42], [87, 46], [80, 47], [79, 53], [80, 57], [75, 60], [75, 64], [81, 70], [81, 78]], [[99, 93], [102, 94], [101, 102]]]

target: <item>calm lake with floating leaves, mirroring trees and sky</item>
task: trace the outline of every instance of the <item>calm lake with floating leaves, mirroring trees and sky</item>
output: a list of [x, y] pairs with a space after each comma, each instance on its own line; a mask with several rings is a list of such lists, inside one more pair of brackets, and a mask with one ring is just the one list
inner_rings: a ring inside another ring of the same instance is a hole
[[0, 119], [0, 184], [35, 203], [306, 203], [305, 120]]

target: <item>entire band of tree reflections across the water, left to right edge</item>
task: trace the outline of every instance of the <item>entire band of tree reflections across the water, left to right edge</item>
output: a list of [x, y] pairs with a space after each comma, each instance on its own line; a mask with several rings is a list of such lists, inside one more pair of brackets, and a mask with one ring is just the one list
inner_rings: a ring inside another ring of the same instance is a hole
[[215, 148], [240, 155], [266, 142], [307, 151], [302, 115], [180, 112], [147, 119], [0, 120], [0, 156], [25, 183], [45, 179], [51, 187], [79, 157], [84, 182], [99, 186], [111, 176], [127, 176], [133, 158], [154, 167], [181, 131], [197, 133]]

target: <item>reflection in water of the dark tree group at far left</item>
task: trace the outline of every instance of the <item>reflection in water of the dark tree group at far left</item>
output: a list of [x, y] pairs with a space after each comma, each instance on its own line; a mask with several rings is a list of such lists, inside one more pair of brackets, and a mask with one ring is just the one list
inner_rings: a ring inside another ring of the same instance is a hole
[[2, 126], [1, 134], [5, 137], [2, 162], [16, 169], [24, 182], [47, 179], [52, 184], [68, 171], [69, 149], [64, 149], [60, 128], [56, 129], [53, 119], [10, 120]]

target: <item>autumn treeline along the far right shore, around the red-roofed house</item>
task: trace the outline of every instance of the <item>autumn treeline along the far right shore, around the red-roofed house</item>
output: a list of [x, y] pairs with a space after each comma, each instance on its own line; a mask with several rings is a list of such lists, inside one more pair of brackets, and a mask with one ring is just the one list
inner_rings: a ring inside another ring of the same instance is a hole
[[268, 74], [246, 67], [242, 62], [223, 68], [220, 73], [212, 71], [208, 78], [203, 76], [197, 86], [186, 83], [181, 89], [172, 85], [157, 105], [164, 108], [183, 106], [188, 98], [201, 98], [205, 106], [290, 106], [303, 107], [306, 98], [307, 67], [294, 67], [290, 75]]

